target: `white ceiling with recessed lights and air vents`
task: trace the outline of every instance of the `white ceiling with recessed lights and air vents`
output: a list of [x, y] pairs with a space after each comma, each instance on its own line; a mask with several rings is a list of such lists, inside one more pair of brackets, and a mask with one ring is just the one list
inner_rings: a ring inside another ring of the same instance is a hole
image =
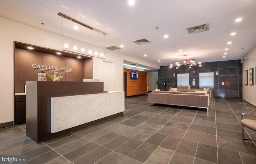
[[[62, 12], [108, 34], [105, 47], [122, 44], [116, 52], [160, 66], [182, 62], [185, 54], [197, 62], [242, 59], [256, 46], [256, 0], [135, 0], [134, 6], [128, 0], [0, 0], [0, 4], [1, 17], [60, 35], [62, 18], [57, 13]], [[236, 18], [242, 21], [235, 22]], [[209, 31], [186, 32], [206, 23]], [[74, 23], [63, 19], [64, 36], [104, 47], [103, 35], [87, 28], [74, 32], [70, 24]], [[132, 42], [143, 38], [151, 43]]]

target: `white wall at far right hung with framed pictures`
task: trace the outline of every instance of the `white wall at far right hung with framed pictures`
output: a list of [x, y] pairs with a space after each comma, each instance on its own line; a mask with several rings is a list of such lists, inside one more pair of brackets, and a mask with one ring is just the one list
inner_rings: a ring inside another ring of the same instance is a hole
[[254, 72], [254, 85], [249, 85], [249, 80], [248, 80], [248, 85], [244, 85], [244, 76], [243, 76], [243, 99], [247, 101], [248, 103], [256, 106], [256, 47], [252, 49], [247, 55], [244, 56], [243, 58], [243, 73], [245, 70], [253, 68]]

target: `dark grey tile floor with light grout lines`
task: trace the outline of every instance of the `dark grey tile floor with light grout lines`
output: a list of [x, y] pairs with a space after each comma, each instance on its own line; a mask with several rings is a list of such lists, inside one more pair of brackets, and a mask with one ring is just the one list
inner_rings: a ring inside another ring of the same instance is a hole
[[40, 144], [26, 136], [26, 124], [2, 128], [0, 154], [26, 155], [28, 164], [255, 164], [256, 145], [241, 139], [239, 122], [255, 111], [241, 99], [212, 97], [207, 113], [131, 97], [124, 117]]

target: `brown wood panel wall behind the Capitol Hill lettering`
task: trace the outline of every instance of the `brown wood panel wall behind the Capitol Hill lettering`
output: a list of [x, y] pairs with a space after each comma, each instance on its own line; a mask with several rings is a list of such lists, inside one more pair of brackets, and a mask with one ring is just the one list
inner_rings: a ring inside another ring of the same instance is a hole
[[[16, 48], [14, 55], [15, 93], [25, 92], [26, 81], [38, 80], [38, 71], [40, 70], [32, 69], [32, 64], [58, 66], [59, 69], [61, 67], [71, 67], [73, 72], [63, 72], [61, 81], [83, 81], [84, 78], [92, 79], [92, 59], [85, 60], [86, 62], [83, 59]], [[84, 71], [85, 68], [86, 71]], [[53, 74], [53, 71], [51, 74]], [[46, 81], [52, 81], [48, 75], [46, 75]]]

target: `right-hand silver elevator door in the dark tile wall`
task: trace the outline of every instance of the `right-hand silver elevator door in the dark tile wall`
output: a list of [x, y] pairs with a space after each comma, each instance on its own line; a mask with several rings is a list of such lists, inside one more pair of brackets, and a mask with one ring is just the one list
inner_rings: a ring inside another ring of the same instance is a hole
[[199, 73], [199, 88], [209, 88], [211, 96], [214, 96], [214, 73]]

